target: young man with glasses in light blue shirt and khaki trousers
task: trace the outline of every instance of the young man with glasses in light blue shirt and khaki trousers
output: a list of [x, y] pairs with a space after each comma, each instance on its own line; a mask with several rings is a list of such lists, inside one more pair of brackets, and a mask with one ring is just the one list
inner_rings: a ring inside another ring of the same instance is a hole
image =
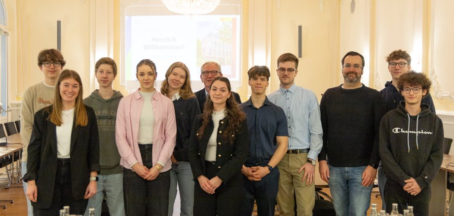
[[311, 216], [315, 205], [315, 160], [322, 148], [320, 108], [314, 92], [295, 84], [298, 58], [285, 53], [277, 59], [279, 89], [268, 100], [284, 110], [289, 139], [288, 150], [277, 164], [279, 190], [277, 204], [281, 216]]

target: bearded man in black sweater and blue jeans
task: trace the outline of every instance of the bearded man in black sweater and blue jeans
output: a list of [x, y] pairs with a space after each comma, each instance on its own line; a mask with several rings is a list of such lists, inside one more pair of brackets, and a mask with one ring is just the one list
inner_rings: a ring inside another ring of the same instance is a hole
[[361, 83], [361, 54], [348, 52], [341, 63], [343, 84], [326, 90], [320, 102], [319, 171], [338, 216], [366, 215], [380, 161], [378, 128], [385, 106], [377, 90]]

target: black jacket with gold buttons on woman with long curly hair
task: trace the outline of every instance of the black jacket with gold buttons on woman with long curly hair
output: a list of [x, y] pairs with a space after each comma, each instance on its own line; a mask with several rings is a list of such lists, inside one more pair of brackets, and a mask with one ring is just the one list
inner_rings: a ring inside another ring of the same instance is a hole
[[[189, 141], [189, 163], [194, 176], [194, 181], [200, 175], [205, 175], [205, 153], [208, 140], [213, 133], [214, 123], [210, 123], [205, 127], [202, 139], [197, 138], [197, 131], [201, 127], [203, 119], [202, 115], [198, 115], [194, 126], [192, 126], [191, 138]], [[226, 130], [228, 125], [227, 119], [224, 118], [219, 121], [218, 131]], [[246, 162], [249, 148], [249, 134], [247, 120], [241, 122], [240, 129], [236, 133], [233, 143], [228, 143], [227, 139], [223, 138], [222, 134], [217, 133], [216, 138], [216, 166], [219, 171], [217, 176], [224, 184], [236, 185], [242, 183], [241, 167]], [[235, 178], [232, 178], [235, 177]], [[229, 182], [232, 180], [234, 182]]]

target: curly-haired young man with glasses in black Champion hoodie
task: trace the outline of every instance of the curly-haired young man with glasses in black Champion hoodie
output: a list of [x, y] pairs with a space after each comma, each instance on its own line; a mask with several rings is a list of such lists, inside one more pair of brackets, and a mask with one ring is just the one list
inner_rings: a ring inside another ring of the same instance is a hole
[[423, 73], [402, 74], [397, 88], [405, 101], [387, 112], [380, 123], [386, 206], [397, 203], [399, 212], [415, 206], [416, 216], [429, 214], [430, 184], [443, 161], [443, 123], [429, 105], [421, 103], [430, 85]]

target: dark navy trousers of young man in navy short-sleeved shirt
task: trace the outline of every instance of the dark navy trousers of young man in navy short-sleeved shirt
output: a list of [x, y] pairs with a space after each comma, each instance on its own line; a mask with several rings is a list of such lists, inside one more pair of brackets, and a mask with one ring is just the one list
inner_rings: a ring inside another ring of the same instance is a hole
[[257, 214], [274, 216], [277, 190], [279, 189], [279, 169], [274, 169], [260, 181], [248, 180], [243, 175], [244, 201], [240, 206], [241, 216], [251, 216], [254, 210], [254, 200], [257, 202]]

